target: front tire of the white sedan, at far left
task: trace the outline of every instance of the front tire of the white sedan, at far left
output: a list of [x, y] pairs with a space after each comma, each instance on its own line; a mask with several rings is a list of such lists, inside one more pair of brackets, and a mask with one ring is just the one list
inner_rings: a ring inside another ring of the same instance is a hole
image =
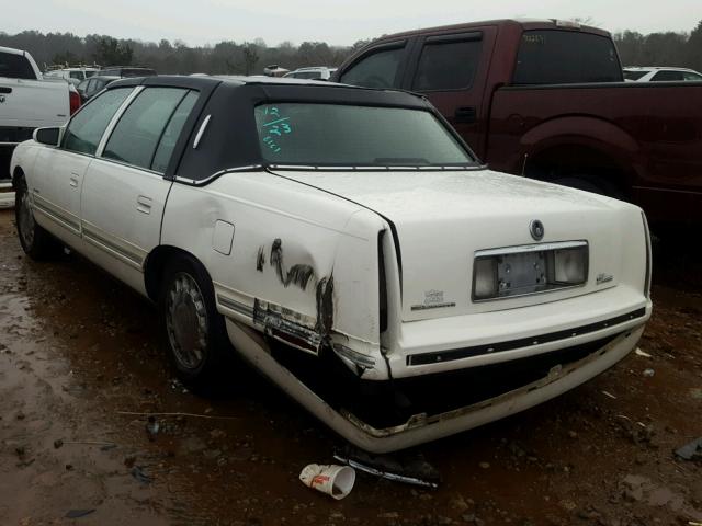
[[14, 218], [22, 250], [36, 261], [48, 260], [60, 250], [60, 243], [34, 219], [31, 196], [23, 175], [15, 180]]

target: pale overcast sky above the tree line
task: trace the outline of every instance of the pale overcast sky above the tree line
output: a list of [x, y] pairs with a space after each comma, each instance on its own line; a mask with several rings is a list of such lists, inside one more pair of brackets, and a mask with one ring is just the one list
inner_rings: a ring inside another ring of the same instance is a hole
[[[0, 31], [109, 34], [189, 45], [263, 38], [349, 45], [384, 33], [512, 16], [590, 19], [611, 32], [691, 31], [702, 0], [24, 0], [3, 10]], [[9, 7], [9, 5], [8, 5]]]

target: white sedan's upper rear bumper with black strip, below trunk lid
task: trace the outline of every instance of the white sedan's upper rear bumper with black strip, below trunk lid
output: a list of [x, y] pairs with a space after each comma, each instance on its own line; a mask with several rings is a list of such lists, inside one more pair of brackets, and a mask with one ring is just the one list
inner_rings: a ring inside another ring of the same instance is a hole
[[641, 290], [619, 285], [523, 309], [403, 323], [388, 366], [393, 378], [411, 378], [552, 353], [641, 325], [652, 309]]

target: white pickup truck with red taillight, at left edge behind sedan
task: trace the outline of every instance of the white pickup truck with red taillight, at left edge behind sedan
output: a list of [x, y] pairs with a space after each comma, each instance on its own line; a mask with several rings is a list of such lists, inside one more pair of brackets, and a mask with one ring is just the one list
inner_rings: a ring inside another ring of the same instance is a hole
[[34, 129], [61, 126], [80, 106], [80, 95], [65, 81], [44, 80], [32, 56], [0, 47], [0, 207], [11, 206], [10, 158]]

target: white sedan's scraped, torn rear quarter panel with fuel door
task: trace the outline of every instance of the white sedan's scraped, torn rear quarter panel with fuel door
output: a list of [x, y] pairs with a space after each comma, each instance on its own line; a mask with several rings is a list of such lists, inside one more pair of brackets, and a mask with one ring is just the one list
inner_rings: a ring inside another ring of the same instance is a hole
[[[217, 220], [235, 226], [230, 255], [213, 250]], [[290, 334], [286, 343], [304, 351], [333, 340], [381, 362], [383, 228], [374, 213], [325, 192], [267, 172], [230, 173], [204, 187], [173, 185], [161, 243], [205, 265], [225, 316]]]

